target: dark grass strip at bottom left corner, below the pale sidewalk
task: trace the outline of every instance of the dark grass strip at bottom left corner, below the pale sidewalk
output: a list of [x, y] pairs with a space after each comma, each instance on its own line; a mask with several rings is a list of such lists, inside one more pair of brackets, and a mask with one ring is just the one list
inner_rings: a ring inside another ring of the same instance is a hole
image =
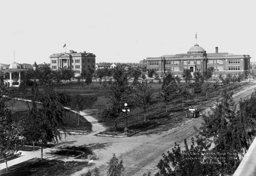
[[34, 158], [26, 162], [0, 170], [1, 176], [67, 176], [88, 166], [88, 162], [63, 162]]

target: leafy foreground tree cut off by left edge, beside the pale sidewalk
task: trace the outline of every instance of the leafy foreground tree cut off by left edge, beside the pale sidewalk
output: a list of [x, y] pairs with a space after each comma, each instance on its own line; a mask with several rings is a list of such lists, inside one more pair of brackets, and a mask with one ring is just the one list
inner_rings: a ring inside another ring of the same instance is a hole
[[6, 173], [8, 173], [7, 160], [17, 153], [21, 145], [20, 135], [12, 120], [11, 111], [0, 101], [0, 157], [5, 160]]

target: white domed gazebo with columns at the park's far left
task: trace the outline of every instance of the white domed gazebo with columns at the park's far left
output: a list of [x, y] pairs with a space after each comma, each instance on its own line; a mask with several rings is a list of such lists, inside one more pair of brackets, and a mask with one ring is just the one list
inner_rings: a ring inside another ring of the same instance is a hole
[[[26, 69], [21, 68], [19, 63], [11, 63], [9, 68], [3, 70], [5, 73], [5, 82], [9, 83], [10, 86], [19, 87], [21, 73], [25, 72]], [[9, 75], [9, 76], [8, 76]]]

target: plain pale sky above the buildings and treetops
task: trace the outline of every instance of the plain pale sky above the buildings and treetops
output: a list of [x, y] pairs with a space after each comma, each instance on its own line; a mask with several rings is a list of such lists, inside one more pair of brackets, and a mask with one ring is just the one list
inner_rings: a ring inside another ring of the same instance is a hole
[[97, 62], [139, 62], [186, 53], [249, 54], [256, 61], [256, 2], [251, 0], [5, 0], [0, 63], [50, 63], [54, 53], [90, 52]]

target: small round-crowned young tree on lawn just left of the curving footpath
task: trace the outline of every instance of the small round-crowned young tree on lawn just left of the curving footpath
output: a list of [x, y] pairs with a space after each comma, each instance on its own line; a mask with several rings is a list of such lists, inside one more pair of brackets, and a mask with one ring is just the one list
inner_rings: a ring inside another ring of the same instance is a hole
[[77, 125], [79, 125], [80, 111], [85, 110], [87, 106], [87, 101], [85, 100], [84, 96], [81, 96], [81, 94], [73, 94], [71, 98], [70, 106], [73, 110], [75, 110], [78, 113]]

